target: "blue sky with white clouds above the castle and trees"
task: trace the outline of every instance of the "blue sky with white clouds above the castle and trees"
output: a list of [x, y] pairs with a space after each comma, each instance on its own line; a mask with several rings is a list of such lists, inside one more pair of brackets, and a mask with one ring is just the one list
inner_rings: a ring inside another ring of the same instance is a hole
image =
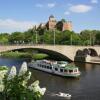
[[99, 0], [0, 0], [0, 33], [26, 31], [50, 15], [72, 21], [77, 33], [100, 30]]

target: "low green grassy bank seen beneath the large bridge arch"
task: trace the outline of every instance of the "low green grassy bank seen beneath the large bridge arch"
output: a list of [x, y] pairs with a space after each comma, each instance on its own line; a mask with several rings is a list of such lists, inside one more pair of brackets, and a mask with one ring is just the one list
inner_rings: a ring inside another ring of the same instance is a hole
[[45, 58], [48, 57], [48, 55], [43, 54], [43, 53], [32, 54], [32, 53], [29, 53], [29, 52], [10, 51], [10, 52], [1, 53], [1, 57], [6, 57], [6, 58], [32, 58], [34, 60], [38, 60], [38, 59], [45, 59]]

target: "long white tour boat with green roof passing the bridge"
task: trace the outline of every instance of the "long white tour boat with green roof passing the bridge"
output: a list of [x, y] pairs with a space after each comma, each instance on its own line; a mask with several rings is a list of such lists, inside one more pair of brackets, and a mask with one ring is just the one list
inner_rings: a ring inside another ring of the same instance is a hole
[[80, 76], [78, 67], [66, 61], [32, 60], [29, 67], [64, 77]]

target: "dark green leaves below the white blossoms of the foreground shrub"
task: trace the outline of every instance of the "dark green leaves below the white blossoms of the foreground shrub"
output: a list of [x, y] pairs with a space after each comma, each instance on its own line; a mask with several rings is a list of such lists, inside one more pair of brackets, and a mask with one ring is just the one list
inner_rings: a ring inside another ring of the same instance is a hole
[[22, 76], [16, 75], [13, 79], [8, 80], [6, 75], [4, 78], [4, 95], [6, 100], [39, 100], [42, 96], [39, 92], [35, 94], [30, 91], [27, 84], [23, 85], [23, 80], [28, 76], [28, 71]]

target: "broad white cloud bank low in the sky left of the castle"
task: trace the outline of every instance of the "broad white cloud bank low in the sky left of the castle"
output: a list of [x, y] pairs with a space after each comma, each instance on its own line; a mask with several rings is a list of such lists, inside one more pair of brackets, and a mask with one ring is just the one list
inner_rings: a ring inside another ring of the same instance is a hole
[[29, 28], [32, 28], [36, 23], [28, 22], [28, 21], [15, 21], [12, 19], [0, 19], [0, 31], [25, 31]]

